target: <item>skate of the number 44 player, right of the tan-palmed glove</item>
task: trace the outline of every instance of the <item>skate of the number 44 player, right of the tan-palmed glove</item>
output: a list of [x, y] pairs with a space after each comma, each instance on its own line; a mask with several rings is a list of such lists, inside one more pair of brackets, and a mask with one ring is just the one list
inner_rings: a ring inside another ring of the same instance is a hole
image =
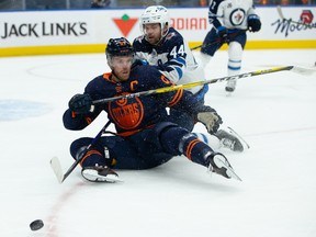
[[[228, 128], [229, 129], [229, 128]], [[215, 136], [219, 139], [219, 143], [223, 147], [226, 147], [234, 151], [244, 151], [244, 145], [240, 140], [239, 135], [236, 132], [229, 129], [228, 132], [224, 129], [218, 129]]]

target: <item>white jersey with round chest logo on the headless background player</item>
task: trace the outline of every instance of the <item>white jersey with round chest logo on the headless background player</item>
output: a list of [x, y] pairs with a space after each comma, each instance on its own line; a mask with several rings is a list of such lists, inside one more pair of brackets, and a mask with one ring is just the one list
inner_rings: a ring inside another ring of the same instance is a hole
[[252, 0], [211, 0], [208, 21], [216, 29], [221, 25], [227, 29], [247, 30], [247, 16], [256, 14]]

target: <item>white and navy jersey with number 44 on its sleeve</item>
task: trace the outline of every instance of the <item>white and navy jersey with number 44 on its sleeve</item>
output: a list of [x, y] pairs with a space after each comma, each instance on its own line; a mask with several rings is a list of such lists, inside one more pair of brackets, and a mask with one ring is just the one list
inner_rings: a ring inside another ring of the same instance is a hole
[[[134, 40], [133, 47], [136, 59], [145, 59], [149, 65], [158, 66], [161, 74], [177, 84], [205, 80], [204, 69], [198, 64], [193, 53], [182, 35], [173, 27], [158, 45], [150, 45], [146, 38], [139, 36]], [[188, 89], [196, 93], [202, 89], [198, 86]]]

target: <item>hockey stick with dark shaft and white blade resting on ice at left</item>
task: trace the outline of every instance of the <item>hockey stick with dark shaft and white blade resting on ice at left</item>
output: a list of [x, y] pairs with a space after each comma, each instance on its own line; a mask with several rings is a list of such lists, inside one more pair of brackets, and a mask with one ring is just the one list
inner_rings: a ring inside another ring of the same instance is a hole
[[105, 129], [111, 124], [111, 121], [108, 121], [108, 123], [102, 127], [102, 129], [98, 133], [98, 135], [92, 139], [92, 142], [80, 153], [80, 156], [78, 159], [69, 167], [69, 169], [63, 173], [63, 168], [60, 166], [59, 159], [57, 157], [53, 157], [50, 159], [50, 167], [57, 177], [57, 180], [59, 183], [63, 183], [64, 180], [67, 179], [67, 177], [75, 170], [75, 168], [80, 163], [80, 161], [83, 159], [84, 155], [89, 151], [91, 146], [93, 146], [97, 140], [101, 137], [101, 135], [105, 132]]

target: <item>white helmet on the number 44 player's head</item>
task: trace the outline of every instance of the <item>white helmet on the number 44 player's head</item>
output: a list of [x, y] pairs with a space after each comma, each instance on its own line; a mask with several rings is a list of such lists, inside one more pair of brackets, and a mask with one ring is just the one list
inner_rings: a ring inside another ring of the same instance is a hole
[[[170, 27], [170, 16], [167, 8], [162, 5], [150, 5], [145, 9], [145, 12], [140, 15], [140, 31], [145, 33], [145, 24], [159, 23], [161, 26], [161, 36], [167, 35]], [[166, 27], [167, 26], [167, 27]], [[166, 27], [166, 31], [163, 31]]]

